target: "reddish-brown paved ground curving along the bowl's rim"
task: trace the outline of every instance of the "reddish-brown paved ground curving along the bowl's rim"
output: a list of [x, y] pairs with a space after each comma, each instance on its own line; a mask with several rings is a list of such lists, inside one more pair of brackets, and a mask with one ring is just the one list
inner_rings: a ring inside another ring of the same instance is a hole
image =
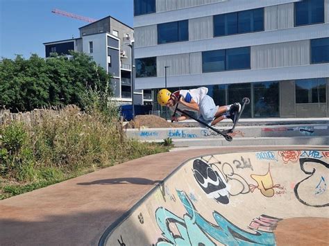
[[[258, 146], [255, 150], [282, 148]], [[109, 225], [183, 161], [253, 149], [222, 147], [162, 153], [2, 200], [0, 245], [96, 245]]]

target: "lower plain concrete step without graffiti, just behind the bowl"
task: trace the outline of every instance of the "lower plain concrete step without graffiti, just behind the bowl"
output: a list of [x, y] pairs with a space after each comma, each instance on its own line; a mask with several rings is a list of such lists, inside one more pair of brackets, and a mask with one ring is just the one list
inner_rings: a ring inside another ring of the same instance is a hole
[[[146, 142], [162, 142], [147, 140]], [[277, 145], [314, 145], [329, 146], [329, 137], [235, 137], [228, 142], [225, 139], [173, 139], [175, 147], [192, 146], [277, 146]]]

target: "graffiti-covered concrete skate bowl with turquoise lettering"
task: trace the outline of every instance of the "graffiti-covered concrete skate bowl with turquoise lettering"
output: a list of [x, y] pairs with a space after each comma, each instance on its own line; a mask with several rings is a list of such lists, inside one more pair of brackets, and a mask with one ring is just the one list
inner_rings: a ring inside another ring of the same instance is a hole
[[329, 148], [194, 157], [99, 245], [328, 245]]

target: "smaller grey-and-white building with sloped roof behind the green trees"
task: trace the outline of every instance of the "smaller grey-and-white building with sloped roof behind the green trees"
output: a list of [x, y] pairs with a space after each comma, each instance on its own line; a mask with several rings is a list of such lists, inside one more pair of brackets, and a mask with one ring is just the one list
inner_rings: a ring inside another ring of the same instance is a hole
[[[46, 57], [51, 53], [68, 55], [69, 51], [83, 52], [112, 75], [111, 86], [114, 100], [121, 105], [132, 103], [133, 28], [113, 17], [106, 17], [79, 28], [80, 37], [44, 43]], [[146, 90], [135, 90], [134, 104], [151, 103]]]

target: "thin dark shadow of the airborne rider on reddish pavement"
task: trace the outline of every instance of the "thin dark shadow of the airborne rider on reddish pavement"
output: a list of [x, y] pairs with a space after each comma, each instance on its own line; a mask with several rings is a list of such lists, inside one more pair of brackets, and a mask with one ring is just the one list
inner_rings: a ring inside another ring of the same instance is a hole
[[158, 184], [162, 182], [162, 180], [151, 180], [144, 179], [143, 177], [119, 177], [116, 179], [99, 179], [93, 182], [85, 182], [78, 183], [78, 185], [92, 185], [92, 184], [141, 184], [141, 185], [149, 185], [149, 184]]

